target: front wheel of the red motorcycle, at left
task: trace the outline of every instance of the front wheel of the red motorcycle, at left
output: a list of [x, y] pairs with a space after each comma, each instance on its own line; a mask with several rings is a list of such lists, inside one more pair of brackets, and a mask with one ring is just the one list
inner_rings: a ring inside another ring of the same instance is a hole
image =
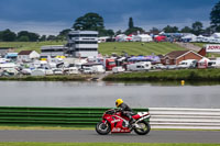
[[107, 122], [107, 124], [105, 124], [103, 122], [99, 122], [96, 125], [96, 132], [100, 135], [107, 135], [111, 132], [111, 125], [109, 124], [109, 122]]

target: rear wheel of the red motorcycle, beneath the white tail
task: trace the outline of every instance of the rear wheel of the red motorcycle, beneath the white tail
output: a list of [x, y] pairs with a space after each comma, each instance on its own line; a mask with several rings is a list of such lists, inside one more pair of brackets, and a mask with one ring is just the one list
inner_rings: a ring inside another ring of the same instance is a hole
[[134, 132], [139, 135], [145, 135], [151, 131], [151, 125], [145, 121], [139, 122], [138, 125], [140, 127], [135, 127]]

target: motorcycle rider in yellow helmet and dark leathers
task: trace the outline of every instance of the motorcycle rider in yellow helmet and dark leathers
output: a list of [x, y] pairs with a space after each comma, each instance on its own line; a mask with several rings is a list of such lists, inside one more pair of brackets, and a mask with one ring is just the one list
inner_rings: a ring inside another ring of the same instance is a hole
[[132, 109], [127, 103], [124, 103], [122, 99], [118, 99], [116, 101], [116, 105], [119, 108], [119, 111], [122, 113], [122, 115], [129, 117], [130, 125], [135, 123], [135, 120], [132, 117], [132, 114], [134, 114]]

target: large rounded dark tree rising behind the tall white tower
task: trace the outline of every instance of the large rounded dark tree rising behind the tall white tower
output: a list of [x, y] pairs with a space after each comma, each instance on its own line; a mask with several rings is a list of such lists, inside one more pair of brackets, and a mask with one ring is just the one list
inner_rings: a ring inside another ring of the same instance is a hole
[[75, 30], [99, 31], [105, 27], [103, 19], [97, 13], [87, 13], [78, 18], [73, 27]]

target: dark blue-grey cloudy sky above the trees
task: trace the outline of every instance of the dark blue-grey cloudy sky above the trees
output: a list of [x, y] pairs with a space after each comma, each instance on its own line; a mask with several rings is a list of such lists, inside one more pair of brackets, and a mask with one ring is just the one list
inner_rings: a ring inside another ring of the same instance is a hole
[[0, 0], [0, 31], [31, 31], [58, 34], [75, 20], [96, 12], [107, 29], [127, 30], [129, 18], [145, 31], [153, 26], [190, 26], [210, 23], [211, 9], [219, 0]]

